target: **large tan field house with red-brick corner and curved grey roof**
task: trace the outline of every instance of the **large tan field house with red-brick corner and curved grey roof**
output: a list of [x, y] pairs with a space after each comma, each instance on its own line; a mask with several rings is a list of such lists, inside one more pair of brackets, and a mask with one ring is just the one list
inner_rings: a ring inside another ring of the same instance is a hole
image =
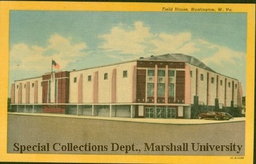
[[241, 83], [198, 59], [165, 54], [16, 80], [11, 109], [130, 118], [195, 118], [201, 111], [241, 113]]

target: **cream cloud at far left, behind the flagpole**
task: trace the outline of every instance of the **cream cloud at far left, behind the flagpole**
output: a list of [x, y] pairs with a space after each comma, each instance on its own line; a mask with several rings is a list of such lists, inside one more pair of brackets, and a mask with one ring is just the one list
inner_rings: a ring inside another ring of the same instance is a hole
[[48, 40], [48, 46], [28, 46], [24, 43], [15, 44], [10, 50], [11, 70], [34, 70], [44, 72], [51, 68], [51, 59], [60, 64], [61, 70], [68, 63], [84, 57], [88, 47], [85, 42], [72, 44], [72, 38], [65, 38], [59, 34], [53, 34]]

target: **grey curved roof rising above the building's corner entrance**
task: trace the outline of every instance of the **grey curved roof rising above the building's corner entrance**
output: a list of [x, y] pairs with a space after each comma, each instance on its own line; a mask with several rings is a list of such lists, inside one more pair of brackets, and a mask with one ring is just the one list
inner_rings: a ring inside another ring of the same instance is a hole
[[204, 68], [208, 71], [213, 71], [211, 68], [209, 68], [207, 65], [205, 65], [203, 62], [199, 61], [199, 59], [196, 59], [194, 57], [184, 55], [184, 54], [164, 54], [159, 56], [151, 56], [148, 58], [141, 58], [139, 61], [179, 61], [179, 62], [186, 62], [189, 64], [192, 64], [194, 66]]

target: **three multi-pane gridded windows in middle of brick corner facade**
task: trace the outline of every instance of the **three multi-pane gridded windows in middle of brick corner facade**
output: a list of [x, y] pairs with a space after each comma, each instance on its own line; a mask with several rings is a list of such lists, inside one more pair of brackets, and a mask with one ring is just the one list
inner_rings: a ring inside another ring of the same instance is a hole
[[[158, 97], [164, 97], [165, 88], [164, 83], [157, 84], [156, 94]], [[147, 83], [147, 96], [154, 96], [154, 83]], [[174, 97], [174, 83], [168, 83], [168, 97]]]

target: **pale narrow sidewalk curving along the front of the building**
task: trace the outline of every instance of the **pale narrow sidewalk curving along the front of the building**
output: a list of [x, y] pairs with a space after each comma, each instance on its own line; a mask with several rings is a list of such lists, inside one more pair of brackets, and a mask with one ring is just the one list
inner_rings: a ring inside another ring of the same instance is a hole
[[119, 118], [106, 116], [84, 116], [84, 115], [68, 115], [68, 114], [49, 114], [49, 113], [8, 113], [15, 115], [31, 115], [31, 116], [55, 116], [64, 118], [80, 118], [80, 119], [101, 119], [115, 120], [123, 122], [141, 122], [141, 123], [160, 123], [160, 124], [212, 124], [212, 123], [228, 123], [242, 122], [245, 117], [233, 118], [230, 120], [204, 120], [204, 119], [156, 119], [156, 118]]

